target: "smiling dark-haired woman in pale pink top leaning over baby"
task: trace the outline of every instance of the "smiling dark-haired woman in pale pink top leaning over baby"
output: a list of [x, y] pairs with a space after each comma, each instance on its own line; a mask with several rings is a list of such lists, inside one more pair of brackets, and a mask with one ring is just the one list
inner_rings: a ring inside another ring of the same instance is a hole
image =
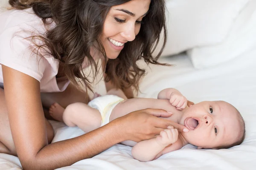
[[[49, 144], [54, 133], [44, 118], [53, 102], [64, 108], [88, 102], [87, 93], [75, 87], [79, 87], [79, 78], [91, 89], [81, 71], [89, 65], [94, 77], [100, 67], [105, 70], [107, 89], [120, 88], [132, 97], [131, 87], [138, 89], [145, 73], [136, 61], [159, 64], [161, 52], [156, 58], [151, 54], [162, 29], [166, 37], [164, 0], [9, 3], [14, 9], [0, 16], [1, 153], [18, 156], [24, 169], [55, 169], [95, 156], [121, 141], [151, 139], [169, 125], [185, 128], [157, 118], [170, 116], [166, 111], [146, 109], [82, 136]], [[106, 64], [99, 65], [99, 59]]]

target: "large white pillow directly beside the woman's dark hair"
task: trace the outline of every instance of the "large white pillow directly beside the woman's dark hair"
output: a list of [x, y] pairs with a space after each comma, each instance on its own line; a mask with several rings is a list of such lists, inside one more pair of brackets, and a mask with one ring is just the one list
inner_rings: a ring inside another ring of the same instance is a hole
[[[168, 0], [168, 38], [162, 56], [222, 42], [249, 0]], [[157, 51], [160, 50], [157, 46]], [[154, 53], [156, 54], [156, 52]]]

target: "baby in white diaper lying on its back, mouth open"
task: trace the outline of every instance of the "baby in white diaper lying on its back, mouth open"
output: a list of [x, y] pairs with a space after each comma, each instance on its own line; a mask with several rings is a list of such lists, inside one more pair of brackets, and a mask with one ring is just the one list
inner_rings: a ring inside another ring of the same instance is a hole
[[87, 133], [130, 112], [156, 108], [172, 113], [163, 119], [170, 119], [189, 129], [189, 132], [178, 132], [169, 126], [154, 139], [122, 142], [133, 146], [132, 155], [140, 161], [157, 159], [189, 143], [198, 149], [220, 149], [239, 145], [244, 140], [244, 120], [239, 111], [227, 102], [204, 101], [188, 107], [186, 97], [173, 88], [160, 91], [157, 99], [127, 99], [121, 90], [111, 90], [108, 94], [93, 99], [88, 105], [74, 103], [66, 109], [54, 103], [49, 113], [66, 125], [78, 126]]

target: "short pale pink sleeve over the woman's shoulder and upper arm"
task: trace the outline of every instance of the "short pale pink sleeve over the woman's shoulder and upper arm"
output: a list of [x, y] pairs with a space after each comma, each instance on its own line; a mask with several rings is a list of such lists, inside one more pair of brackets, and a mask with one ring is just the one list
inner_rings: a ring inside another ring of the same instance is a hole
[[32, 32], [20, 30], [16, 26], [3, 31], [0, 34], [0, 64], [27, 74], [40, 82], [47, 61], [33, 52], [35, 46], [31, 38], [26, 38], [31, 35]]

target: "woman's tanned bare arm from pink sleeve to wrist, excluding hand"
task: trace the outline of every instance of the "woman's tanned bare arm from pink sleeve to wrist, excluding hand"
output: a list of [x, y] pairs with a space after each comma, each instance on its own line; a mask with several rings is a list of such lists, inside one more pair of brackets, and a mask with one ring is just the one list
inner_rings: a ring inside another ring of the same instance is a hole
[[71, 165], [122, 141], [117, 125], [111, 124], [74, 139], [47, 145], [39, 82], [12, 68], [4, 65], [2, 68], [10, 127], [24, 169]]

